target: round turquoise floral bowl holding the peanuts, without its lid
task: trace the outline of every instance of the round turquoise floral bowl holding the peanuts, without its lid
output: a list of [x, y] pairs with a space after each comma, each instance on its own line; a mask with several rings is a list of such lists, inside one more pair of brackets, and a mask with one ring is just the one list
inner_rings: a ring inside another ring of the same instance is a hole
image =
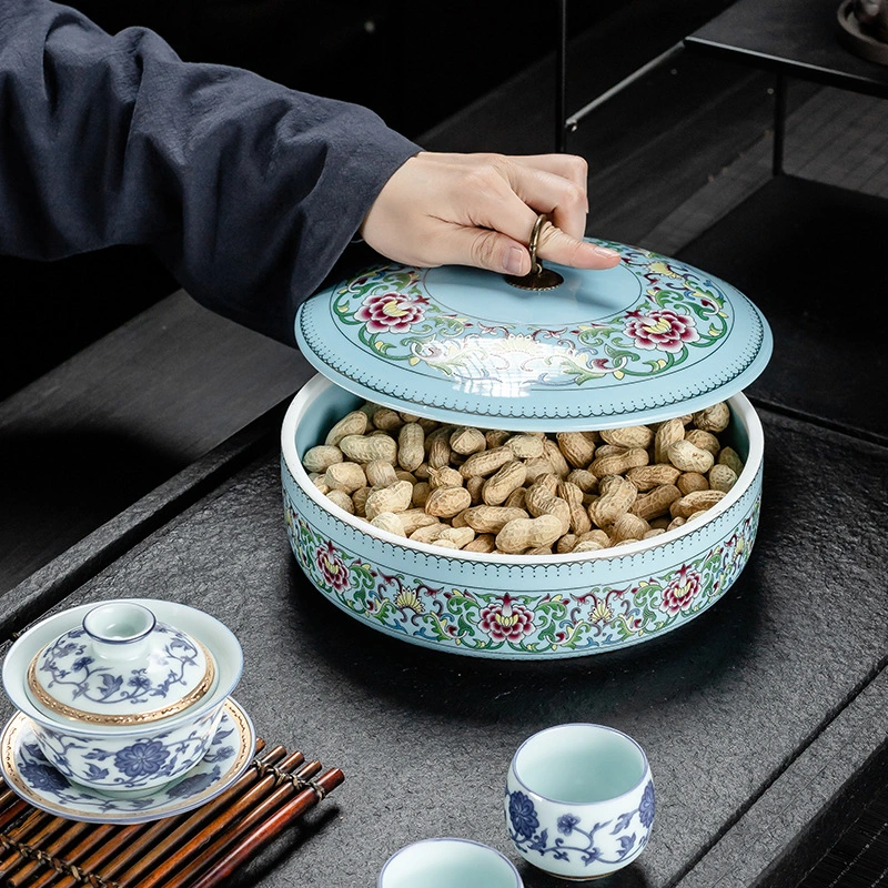
[[619, 548], [557, 556], [442, 551], [380, 531], [333, 504], [300, 458], [361, 403], [321, 375], [293, 400], [282, 428], [286, 529], [312, 584], [345, 613], [395, 638], [512, 659], [614, 650], [702, 614], [749, 557], [764, 442], [743, 394], [728, 401], [733, 422], [723, 438], [745, 468], [705, 518]]

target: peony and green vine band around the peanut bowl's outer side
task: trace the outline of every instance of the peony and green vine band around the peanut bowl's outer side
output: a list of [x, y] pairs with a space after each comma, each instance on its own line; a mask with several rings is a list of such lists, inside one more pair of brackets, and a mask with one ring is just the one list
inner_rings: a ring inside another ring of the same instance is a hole
[[618, 588], [593, 586], [541, 597], [432, 586], [404, 573], [385, 573], [315, 532], [285, 496], [296, 558], [341, 607], [416, 640], [508, 655], [622, 647], [686, 622], [719, 598], [743, 569], [758, 506], [757, 500], [727, 541], [676, 568]]

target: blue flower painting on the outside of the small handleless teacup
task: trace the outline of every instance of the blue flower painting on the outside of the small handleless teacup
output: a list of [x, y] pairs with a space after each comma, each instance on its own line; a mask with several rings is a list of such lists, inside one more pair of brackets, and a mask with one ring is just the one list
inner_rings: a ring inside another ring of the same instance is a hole
[[[533, 799], [521, 790], [506, 793], [506, 821], [515, 847], [522, 851], [536, 851], [541, 857], [552, 855], [555, 860], [592, 864], [622, 864], [647, 845], [654, 823], [654, 783], [648, 780], [637, 808], [601, 823], [584, 823], [576, 814], [561, 815], [555, 823], [555, 835], [541, 829], [539, 816]], [[637, 821], [637, 823], [635, 823]], [[635, 826], [634, 826], [635, 823]], [[606, 851], [601, 847], [601, 836], [609, 838]]]

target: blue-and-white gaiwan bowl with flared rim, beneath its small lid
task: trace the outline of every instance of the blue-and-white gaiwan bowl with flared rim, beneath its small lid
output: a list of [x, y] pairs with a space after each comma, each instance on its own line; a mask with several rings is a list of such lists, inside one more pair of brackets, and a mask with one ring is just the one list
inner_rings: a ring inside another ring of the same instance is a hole
[[2, 678], [12, 704], [30, 719], [40, 751], [59, 773], [100, 793], [139, 798], [180, 779], [203, 758], [225, 700], [240, 680], [243, 653], [233, 633], [209, 614], [171, 602], [124, 601], [147, 608], [209, 652], [214, 678], [195, 703], [154, 720], [135, 716], [129, 724], [91, 724], [50, 710], [36, 699], [28, 684], [34, 657], [61, 636], [77, 632], [95, 604], [63, 610], [29, 628], [9, 649]]

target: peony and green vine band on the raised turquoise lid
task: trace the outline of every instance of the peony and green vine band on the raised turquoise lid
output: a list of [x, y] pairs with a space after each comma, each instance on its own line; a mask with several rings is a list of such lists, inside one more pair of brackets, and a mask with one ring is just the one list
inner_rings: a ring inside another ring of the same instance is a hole
[[423, 273], [400, 265], [384, 265], [340, 287], [333, 315], [387, 361], [447, 376], [496, 375], [521, 366], [539, 386], [655, 376], [728, 333], [728, 305], [712, 281], [655, 253], [602, 243], [620, 251], [643, 294], [632, 309], [601, 322], [488, 324], [438, 304], [425, 290]]

